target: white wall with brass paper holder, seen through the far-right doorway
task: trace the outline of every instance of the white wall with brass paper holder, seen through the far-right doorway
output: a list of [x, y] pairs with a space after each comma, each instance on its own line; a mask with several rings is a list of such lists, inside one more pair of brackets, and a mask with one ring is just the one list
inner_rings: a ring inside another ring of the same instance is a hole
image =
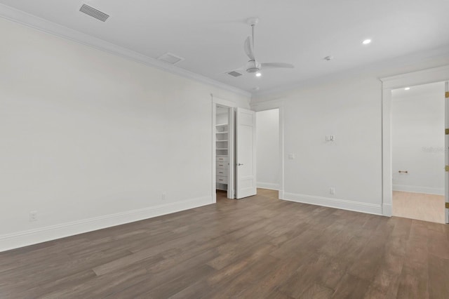
[[444, 195], [443, 129], [444, 82], [391, 93], [393, 190]]

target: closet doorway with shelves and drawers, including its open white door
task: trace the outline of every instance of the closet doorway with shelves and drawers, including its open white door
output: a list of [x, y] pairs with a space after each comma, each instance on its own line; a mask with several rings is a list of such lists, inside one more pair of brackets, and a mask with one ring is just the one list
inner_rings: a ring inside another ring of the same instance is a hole
[[212, 202], [217, 201], [217, 190], [226, 192], [228, 199], [253, 196], [255, 112], [227, 100], [212, 100]]

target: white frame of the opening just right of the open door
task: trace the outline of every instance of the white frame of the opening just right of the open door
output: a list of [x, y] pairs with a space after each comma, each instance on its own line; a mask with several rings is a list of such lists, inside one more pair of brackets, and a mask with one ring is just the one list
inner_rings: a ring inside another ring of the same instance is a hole
[[[283, 199], [283, 178], [284, 178], [284, 163], [283, 163], [283, 100], [275, 99], [266, 102], [255, 102], [251, 105], [251, 110], [261, 112], [272, 109], [279, 109], [279, 199]], [[257, 130], [257, 128], [256, 128]]]

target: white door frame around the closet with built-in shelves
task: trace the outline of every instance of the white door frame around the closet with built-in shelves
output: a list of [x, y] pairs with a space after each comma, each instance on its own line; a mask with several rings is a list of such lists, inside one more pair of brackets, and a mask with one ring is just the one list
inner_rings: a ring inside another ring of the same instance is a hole
[[[217, 178], [216, 171], [217, 166], [216, 162], [216, 135], [215, 135], [215, 122], [217, 121], [217, 105], [228, 107], [229, 108], [229, 123], [234, 119], [234, 108], [237, 107], [235, 102], [229, 100], [223, 100], [221, 98], [217, 98], [214, 95], [210, 95], [212, 98], [212, 203], [215, 204], [217, 202]], [[235, 197], [235, 185], [234, 185], [234, 125], [229, 124], [229, 142], [228, 142], [228, 156], [229, 156], [229, 176], [228, 176], [228, 192], [227, 198], [234, 199]]]

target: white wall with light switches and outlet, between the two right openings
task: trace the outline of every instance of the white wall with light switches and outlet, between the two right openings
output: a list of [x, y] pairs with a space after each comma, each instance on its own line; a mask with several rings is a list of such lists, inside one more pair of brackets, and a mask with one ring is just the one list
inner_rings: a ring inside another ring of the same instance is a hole
[[[283, 107], [282, 199], [382, 213], [382, 84], [379, 78], [449, 65], [449, 55], [379, 63], [256, 95]], [[335, 135], [335, 141], [326, 141]], [[295, 154], [295, 159], [288, 159]], [[335, 194], [330, 194], [335, 187]]]

